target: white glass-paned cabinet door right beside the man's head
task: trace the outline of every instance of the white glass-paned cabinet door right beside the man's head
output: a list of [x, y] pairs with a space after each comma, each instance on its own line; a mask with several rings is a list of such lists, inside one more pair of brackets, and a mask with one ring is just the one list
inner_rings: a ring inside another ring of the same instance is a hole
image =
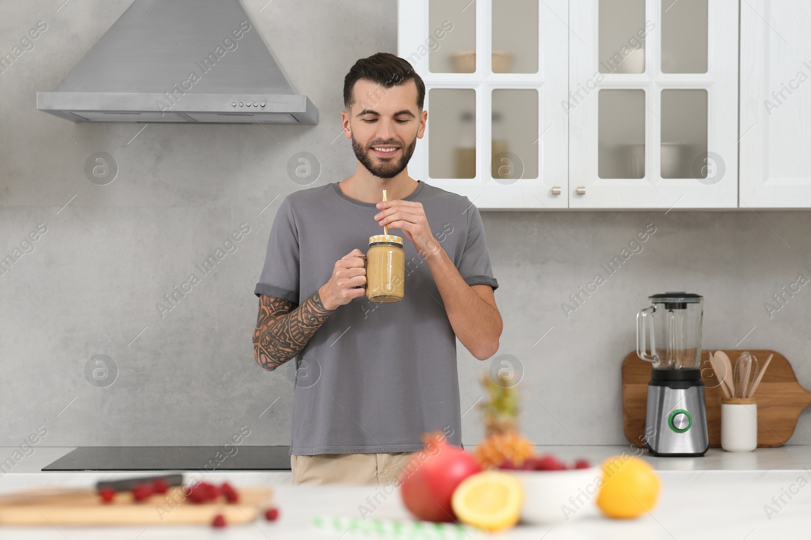
[[398, 14], [428, 110], [410, 176], [480, 209], [569, 206], [569, 2], [402, 0]]

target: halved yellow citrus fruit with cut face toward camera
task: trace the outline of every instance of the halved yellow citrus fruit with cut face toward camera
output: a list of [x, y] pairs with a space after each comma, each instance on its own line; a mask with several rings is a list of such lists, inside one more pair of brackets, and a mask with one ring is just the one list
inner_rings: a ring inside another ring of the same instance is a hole
[[521, 482], [513, 474], [496, 470], [465, 478], [453, 491], [451, 499], [459, 521], [491, 531], [515, 525], [523, 503]]

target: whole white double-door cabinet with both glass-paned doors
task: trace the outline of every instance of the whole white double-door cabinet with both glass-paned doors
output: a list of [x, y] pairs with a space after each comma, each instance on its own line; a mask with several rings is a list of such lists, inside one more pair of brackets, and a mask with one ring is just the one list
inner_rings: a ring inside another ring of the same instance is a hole
[[410, 173], [483, 210], [735, 208], [738, 11], [400, 2], [399, 55], [429, 111]]

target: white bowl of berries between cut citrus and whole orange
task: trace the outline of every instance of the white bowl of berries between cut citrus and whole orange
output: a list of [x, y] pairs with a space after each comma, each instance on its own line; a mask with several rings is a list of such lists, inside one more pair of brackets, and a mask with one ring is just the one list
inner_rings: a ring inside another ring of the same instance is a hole
[[560, 524], [599, 515], [597, 494], [603, 484], [603, 470], [599, 466], [508, 472], [515, 474], [524, 486], [521, 521], [525, 523]]

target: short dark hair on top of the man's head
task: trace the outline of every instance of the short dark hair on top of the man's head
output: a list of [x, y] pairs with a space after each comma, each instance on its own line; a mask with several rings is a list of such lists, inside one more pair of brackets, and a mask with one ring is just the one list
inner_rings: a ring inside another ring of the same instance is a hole
[[376, 53], [355, 62], [344, 78], [344, 107], [347, 112], [350, 112], [352, 105], [355, 104], [354, 83], [359, 79], [366, 79], [386, 88], [414, 81], [417, 85], [417, 106], [422, 112], [425, 103], [425, 83], [414, 71], [414, 67], [403, 58], [392, 53]]

